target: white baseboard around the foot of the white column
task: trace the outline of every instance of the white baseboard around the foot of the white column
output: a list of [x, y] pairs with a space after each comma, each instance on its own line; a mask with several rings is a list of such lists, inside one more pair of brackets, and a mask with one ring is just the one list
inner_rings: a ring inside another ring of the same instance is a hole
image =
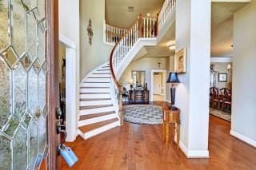
[[179, 142], [179, 146], [187, 158], [210, 158], [208, 150], [189, 150], [181, 141]]

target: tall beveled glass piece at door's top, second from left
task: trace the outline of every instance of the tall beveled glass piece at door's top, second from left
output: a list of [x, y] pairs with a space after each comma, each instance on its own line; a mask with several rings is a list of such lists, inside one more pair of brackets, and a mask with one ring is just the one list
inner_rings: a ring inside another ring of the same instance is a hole
[[26, 51], [26, 10], [21, 1], [10, 0], [13, 10], [11, 11], [11, 42], [18, 56]]

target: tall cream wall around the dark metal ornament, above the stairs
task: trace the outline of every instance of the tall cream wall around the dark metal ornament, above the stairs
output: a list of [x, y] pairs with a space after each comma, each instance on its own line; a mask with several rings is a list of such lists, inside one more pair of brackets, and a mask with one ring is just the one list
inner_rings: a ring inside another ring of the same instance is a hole
[[[103, 20], [105, 19], [105, 0], [82, 0], [80, 1], [80, 43], [81, 63], [80, 80], [98, 65], [110, 60], [112, 45], [103, 43]], [[92, 45], [89, 44], [87, 26], [89, 19], [92, 22], [94, 37]]]

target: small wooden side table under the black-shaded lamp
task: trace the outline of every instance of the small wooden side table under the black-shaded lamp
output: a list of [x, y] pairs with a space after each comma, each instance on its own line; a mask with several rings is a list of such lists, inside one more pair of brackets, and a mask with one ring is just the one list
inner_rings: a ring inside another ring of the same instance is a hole
[[[177, 135], [177, 147], [179, 148], [179, 134], [180, 134], [180, 110], [170, 110], [169, 107], [163, 108], [162, 112], [162, 137], [168, 147], [169, 142], [169, 124], [174, 124], [173, 136]], [[174, 139], [173, 139], [174, 140]]]

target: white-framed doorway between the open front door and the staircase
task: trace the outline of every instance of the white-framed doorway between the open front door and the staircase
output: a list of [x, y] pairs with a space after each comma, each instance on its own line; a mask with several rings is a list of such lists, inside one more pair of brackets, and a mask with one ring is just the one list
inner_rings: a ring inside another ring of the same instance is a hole
[[63, 34], [59, 34], [58, 82], [60, 101], [66, 125], [66, 141], [74, 141], [77, 136], [78, 85], [76, 45]]

